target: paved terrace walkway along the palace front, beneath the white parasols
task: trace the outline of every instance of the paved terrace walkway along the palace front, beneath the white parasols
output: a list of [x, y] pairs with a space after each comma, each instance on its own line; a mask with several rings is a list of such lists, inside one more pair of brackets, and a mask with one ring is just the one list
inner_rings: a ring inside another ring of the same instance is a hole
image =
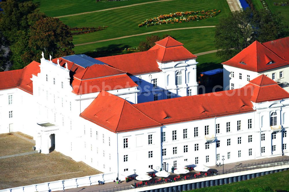
[[[253, 159], [253, 160], [247, 160], [247, 161], [240, 161], [240, 162], [236, 162], [236, 163], [228, 163], [226, 164], [226, 160], [224, 161], [225, 166], [224, 169], [232, 169], [237, 167], [238, 165], [242, 165], [242, 164], [246, 164], [246, 163], [254, 163], [254, 162], [259, 162], [259, 161], [268, 161], [268, 160], [274, 160], [274, 159], [280, 159], [280, 158], [285, 158], [288, 156], [278, 156], [278, 157], [271, 157], [271, 158], [264, 158], [264, 159]], [[218, 171], [218, 172], [223, 172], [223, 166], [221, 167], [215, 167], [212, 166], [210, 167], [212, 170], [214, 171]], [[196, 173], [196, 171], [191, 171], [191, 174]], [[197, 172], [199, 173], [199, 172]], [[171, 176], [176, 175], [176, 174], [171, 174]], [[158, 178], [158, 177], [157, 177]], [[125, 181], [121, 181], [121, 184], [117, 184], [116, 182], [109, 182], [109, 183], [105, 183], [104, 185], [92, 185], [92, 186], [86, 186], [86, 187], [79, 187], [79, 188], [73, 188], [73, 189], [66, 189], [66, 192], [89, 192], [89, 191], [96, 191], [96, 190], [100, 190], [100, 189], [108, 189], [108, 188], [114, 188], [114, 187], [125, 187], [127, 185], [133, 184], [133, 181], [130, 182], [125, 182]], [[145, 188], [144, 188], [145, 189]], [[61, 191], [59, 191], [61, 192]], [[62, 190], [63, 192], [63, 190]]]

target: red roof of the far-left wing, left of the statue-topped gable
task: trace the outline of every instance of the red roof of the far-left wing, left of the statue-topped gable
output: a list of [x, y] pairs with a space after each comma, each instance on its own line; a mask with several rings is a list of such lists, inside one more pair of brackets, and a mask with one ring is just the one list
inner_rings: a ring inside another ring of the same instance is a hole
[[40, 63], [32, 61], [23, 69], [0, 72], [0, 90], [18, 87], [19, 89], [33, 94], [32, 74], [40, 72]]

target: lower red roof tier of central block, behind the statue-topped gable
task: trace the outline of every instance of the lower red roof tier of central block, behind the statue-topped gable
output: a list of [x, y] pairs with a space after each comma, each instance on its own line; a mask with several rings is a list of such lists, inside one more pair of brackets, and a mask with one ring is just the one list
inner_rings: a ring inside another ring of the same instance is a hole
[[73, 93], [88, 94], [96, 93], [101, 90], [118, 90], [130, 87], [137, 87], [138, 85], [132, 81], [132, 79], [127, 74], [115, 75], [110, 77], [102, 77], [96, 79], [79, 80], [73, 79], [72, 87]]

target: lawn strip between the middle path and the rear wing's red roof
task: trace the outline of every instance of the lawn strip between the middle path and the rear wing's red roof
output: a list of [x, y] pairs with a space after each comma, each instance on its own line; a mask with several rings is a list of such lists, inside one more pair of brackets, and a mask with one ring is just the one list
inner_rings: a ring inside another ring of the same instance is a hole
[[[186, 49], [194, 54], [216, 49], [214, 44], [214, 33], [215, 28], [203, 28], [167, 31], [154, 33], [153, 35], [162, 37], [164, 34], [168, 34], [173, 36], [179, 42], [183, 43]], [[128, 47], [137, 47], [140, 41], [145, 41], [146, 36], [149, 35], [76, 46], [74, 51], [77, 54], [84, 53], [86, 55], [90, 55], [91, 57], [103, 57], [109, 55], [131, 53], [122, 52], [122, 50]], [[93, 52], [93, 50], [96, 50], [96, 52]]]

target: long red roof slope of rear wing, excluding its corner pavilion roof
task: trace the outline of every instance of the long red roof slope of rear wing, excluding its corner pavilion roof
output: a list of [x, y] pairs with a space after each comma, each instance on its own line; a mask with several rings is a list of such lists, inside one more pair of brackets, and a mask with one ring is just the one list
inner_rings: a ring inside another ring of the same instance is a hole
[[143, 51], [109, 57], [98, 57], [102, 61], [118, 70], [125, 71], [131, 75], [160, 72], [156, 62], [158, 51]]

